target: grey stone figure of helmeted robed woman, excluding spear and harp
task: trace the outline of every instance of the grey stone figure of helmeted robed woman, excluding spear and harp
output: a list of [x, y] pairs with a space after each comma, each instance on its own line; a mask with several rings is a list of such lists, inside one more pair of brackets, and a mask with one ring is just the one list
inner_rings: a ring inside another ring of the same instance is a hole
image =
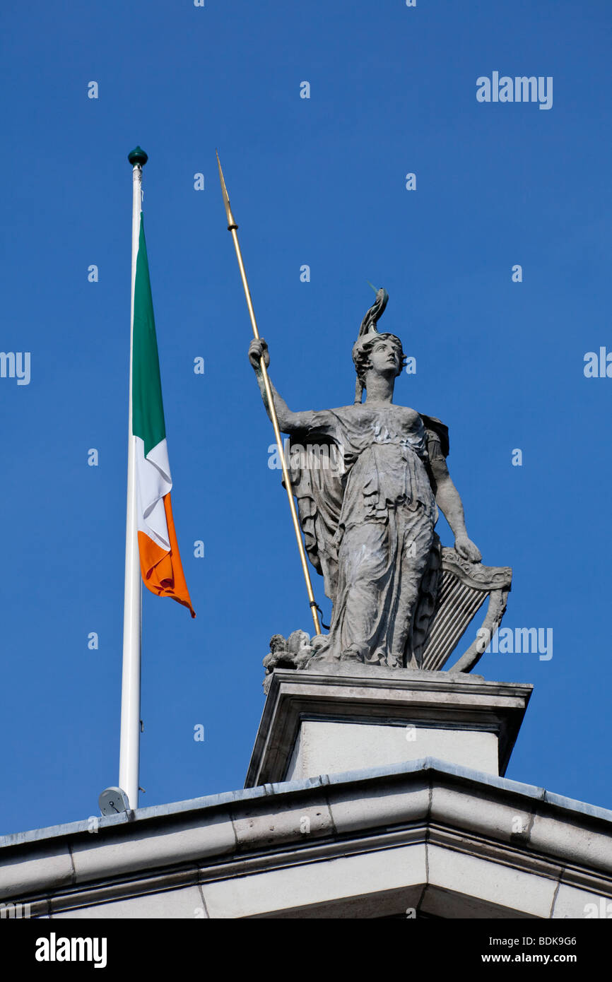
[[[272, 385], [279, 426], [292, 445], [335, 444], [344, 461], [339, 473], [321, 465], [324, 457], [310, 456], [315, 465], [308, 466], [291, 454], [306, 550], [333, 602], [329, 634], [311, 642], [312, 662], [420, 667], [440, 580], [438, 509], [459, 555], [471, 563], [481, 560], [446, 465], [446, 426], [393, 403], [406, 359], [400, 339], [376, 328], [387, 300], [379, 290], [353, 348], [353, 406], [294, 412]], [[267, 367], [265, 341], [252, 341], [250, 364], [265, 405], [261, 355]]]

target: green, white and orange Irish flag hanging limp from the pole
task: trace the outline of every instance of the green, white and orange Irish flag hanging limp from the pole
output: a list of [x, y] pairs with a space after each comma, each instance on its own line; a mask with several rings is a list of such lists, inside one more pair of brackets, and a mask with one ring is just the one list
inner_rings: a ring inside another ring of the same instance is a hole
[[160, 597], [178, 600], [195, 617], [172, 518], [172, 477], [141, 214], [134, 286], [132, 432], [136, 437], [136, 503], [144, 585]]

